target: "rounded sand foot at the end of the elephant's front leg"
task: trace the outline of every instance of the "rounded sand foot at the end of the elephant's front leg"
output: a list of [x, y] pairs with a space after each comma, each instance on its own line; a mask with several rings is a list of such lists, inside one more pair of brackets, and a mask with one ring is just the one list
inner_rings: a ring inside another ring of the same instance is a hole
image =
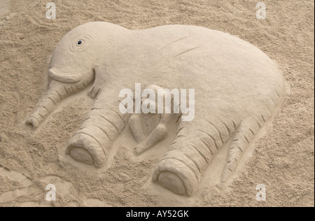
[[88, 134], [76, 134], [71, 138], [66, 153], [77, 162], [94, 164], [100, 168], [106, 162], [106, 155], [97, 140]]

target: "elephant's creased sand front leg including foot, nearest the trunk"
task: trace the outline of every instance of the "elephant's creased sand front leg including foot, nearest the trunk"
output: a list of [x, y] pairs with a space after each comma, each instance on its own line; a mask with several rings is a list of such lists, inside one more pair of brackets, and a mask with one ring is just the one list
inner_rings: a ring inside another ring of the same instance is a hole
[[66, 153], [78, 162], [101, 168], [127, 120], [118, 105], [117, 101], [109, 103], [98, 99], [80, 130], [69, 141]]

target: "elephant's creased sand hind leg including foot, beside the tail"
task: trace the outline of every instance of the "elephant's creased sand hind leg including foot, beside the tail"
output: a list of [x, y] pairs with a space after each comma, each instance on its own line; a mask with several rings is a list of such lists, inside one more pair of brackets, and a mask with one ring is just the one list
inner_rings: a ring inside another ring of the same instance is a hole
[[202, 173], [228, 141], [229, 131], [234, 128], [220, 126], [212, 127], [207, 122], [181, 122], [173, 145], [153, 173], [153, 181], [177, 194], [195, 194]]

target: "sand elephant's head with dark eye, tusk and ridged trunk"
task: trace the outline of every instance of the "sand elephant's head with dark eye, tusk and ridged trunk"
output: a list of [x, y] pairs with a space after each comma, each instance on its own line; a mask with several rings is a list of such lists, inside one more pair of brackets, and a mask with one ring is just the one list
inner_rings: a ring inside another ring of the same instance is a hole
[[108, 43], [109, 25], [106, 22], [86, 23], [71, 30], [59, 41], [49, 64], [49, 90], [27, 124], [38, 127], [62, 99], [93, 82], [95, 66], [104, 57]]

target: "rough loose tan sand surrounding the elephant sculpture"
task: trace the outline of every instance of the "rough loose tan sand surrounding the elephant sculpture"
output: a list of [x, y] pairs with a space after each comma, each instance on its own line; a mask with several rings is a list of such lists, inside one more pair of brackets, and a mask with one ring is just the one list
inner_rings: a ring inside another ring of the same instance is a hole
[[[12, 0], [9, 11], [0, 0], [0, 206], [314, 206], [314, 1], [265, 0], [266, 20], [255, 18], [257, 1], [247, 0], [55, 0], [56, 20], [45, 18], [47, 2]], [[70, 164], [65, 145], [93, 104], [86, 91], [36, 131], [25, 126], [47, 89], [50, 53], [89, 21], [208, 27], [239, 36], [279, 64], [286, 101], [229, 186], [208, 185], [205, 176], [195, 197], [180, 197], [151, 184], [158, 157], [133, 157], [123, 142], [129, 131], [103, 171]], [[57, 187], [55, 202], [45, 201], [48, 183]], [[267, 187], [265, 202], [255, 200], [258, 184]]]

